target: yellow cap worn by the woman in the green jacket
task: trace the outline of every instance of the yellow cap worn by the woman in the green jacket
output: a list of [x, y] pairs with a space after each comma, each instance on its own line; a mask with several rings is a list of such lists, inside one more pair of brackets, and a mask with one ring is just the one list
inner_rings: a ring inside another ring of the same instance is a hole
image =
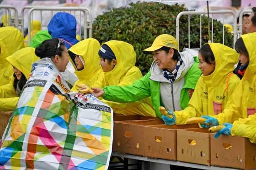
[[179, 43], [173, 36], [169, 34], [162, 34], [155, 38], [151, 47], [143, 50], [142, 52], [144, 54], [151, 54], [152, 51], [159, 50], [163, 46], [179, 50]]

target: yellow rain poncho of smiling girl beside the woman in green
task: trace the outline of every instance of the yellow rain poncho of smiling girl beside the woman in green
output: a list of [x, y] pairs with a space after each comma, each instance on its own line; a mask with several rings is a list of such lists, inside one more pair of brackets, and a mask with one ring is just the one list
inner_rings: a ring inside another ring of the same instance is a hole
[[218, 115], [226, 108], [230, 96], [240, 83], [237, 75], [232, 74], [239, 54], [219, 43], [209, 45], [215, 57], [215, 70], [211, 75], [201, 75], [188, 107], [174, 112], [177, 125], [186, 124], [192, 117]]

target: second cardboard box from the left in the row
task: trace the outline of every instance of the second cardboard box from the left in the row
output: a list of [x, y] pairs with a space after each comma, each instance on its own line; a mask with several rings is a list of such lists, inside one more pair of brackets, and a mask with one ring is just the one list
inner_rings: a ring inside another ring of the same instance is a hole
[[144, 127], [144, 156], [177, 160], [177, 130], [199, 128], [189, 125], [149, 125]]

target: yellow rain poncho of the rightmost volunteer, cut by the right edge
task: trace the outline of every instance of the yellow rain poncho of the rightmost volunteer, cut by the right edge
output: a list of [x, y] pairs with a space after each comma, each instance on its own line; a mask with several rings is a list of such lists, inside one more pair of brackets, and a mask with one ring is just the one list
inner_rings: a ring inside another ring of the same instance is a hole
[[[217, 116], [219, 125], [233, 123], [238, 120], [239, 124], [255, 124], [256, 119], [256, 33], [241, 35], [249, 54], [249, 65], [240, 84], [236, 88], [228, 107]], [[249, 118], [248, 118], [249, 117]], [[247, 119], [245, 119], [247, 118]], [[235, 127], [234, 127], [235, 128]], [[232, 131], [233, 128], [232, 128]]]

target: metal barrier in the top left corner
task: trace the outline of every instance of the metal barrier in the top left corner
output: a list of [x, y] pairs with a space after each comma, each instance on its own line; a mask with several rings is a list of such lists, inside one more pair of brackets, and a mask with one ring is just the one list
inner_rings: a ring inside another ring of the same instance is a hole
[[[8, 26], [13, 25], [15, 28], [18, 28], [18, 11], [12, 5], [0, 5], [0, 9], [5, 9], [5, 24], [7, 25], [7, 10], [8, 10]], [[11, 18], [11, 10], [14, 10], [14, 17]]]

